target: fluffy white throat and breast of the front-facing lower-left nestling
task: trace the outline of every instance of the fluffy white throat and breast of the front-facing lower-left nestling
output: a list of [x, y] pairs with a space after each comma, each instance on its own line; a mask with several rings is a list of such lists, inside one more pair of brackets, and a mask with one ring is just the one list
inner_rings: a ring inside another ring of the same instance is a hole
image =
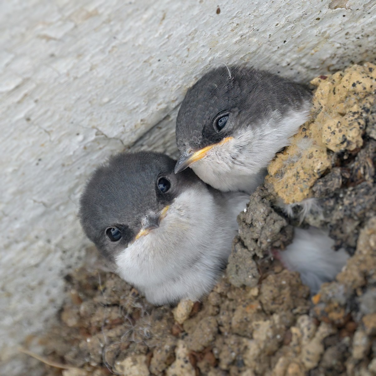
[[218, 205], [204, 185], [186, 190], [170, 205], [158, 229], [118, 255], [117, 273], [154, 304], [197, 300], [213, 287], [227, 262], [249, 197], [228, 193]]

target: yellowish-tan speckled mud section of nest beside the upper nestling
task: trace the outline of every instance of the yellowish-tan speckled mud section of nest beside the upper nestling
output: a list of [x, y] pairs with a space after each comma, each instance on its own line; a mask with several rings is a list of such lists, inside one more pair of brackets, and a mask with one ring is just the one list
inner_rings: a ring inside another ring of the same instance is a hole
[[[312, 197], [317, 179], [336, 165], [346, 168], [347, 159], [356, 156], [375, 132], [374, 114], [370, 116], [376, 103], [375, 70], [370, 63], [353, 65], [311, 81], [317, 86], [314, 118], [268, 167], [266, 180], [285, 203]], [[367, 126], [367, 121], [373, 124]]]

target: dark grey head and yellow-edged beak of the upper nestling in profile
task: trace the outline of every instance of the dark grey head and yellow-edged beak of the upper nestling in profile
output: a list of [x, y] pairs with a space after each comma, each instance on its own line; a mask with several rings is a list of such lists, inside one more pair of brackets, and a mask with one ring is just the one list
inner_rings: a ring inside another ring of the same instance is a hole
[[283, 117], [311, 96], [304, 85], [246, 66], [209, 71], [188, 90], [180, 106], [176, 142], [182, 156], [175, 172], [202, 159], [212, 145], [243, 128], [260, 127], [275, 111]]

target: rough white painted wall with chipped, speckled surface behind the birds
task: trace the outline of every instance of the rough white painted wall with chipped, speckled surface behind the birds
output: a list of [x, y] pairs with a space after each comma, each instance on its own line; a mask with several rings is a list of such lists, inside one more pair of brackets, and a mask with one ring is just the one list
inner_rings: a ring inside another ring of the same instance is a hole
[[80, 264], [76, 204], [106, 156], [152, 128], [137, 145], [173, 154], [186, 89], [220, 61], [309, 80], [375, 39], [375, 0], [1, 1], [0, 374]]

